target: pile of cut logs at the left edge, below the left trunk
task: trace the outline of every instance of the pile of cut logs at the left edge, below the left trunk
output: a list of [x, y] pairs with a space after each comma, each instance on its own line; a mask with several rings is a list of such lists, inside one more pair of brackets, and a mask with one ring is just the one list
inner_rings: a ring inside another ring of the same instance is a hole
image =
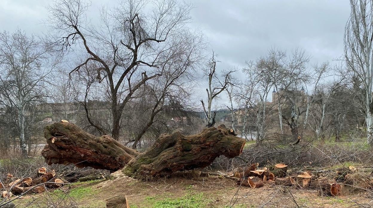
[[54, 170], [48, 171], [46, 167], [41, 167], [32, 177], [16, 179], [8, 173], [6, 180], [0, 183], [0, 190], [2, 190], [1, 197], [10, 198], [12, 195], [22, 193], [42, 193], [46, 191], [46, 188], [55, 189], [63, 185], [63, 180], [56, 175]]

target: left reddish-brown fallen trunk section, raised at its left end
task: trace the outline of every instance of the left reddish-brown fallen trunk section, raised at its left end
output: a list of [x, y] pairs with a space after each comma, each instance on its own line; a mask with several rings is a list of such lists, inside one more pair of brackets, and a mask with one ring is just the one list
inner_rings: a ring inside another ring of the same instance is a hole
[[48, 164], [70, 164], [77, 167], [119, 170], [140, 153], [109, 135], [95, 137], [74, 124], [54, 123], [44, 128], [47, 145], [42, 151]]

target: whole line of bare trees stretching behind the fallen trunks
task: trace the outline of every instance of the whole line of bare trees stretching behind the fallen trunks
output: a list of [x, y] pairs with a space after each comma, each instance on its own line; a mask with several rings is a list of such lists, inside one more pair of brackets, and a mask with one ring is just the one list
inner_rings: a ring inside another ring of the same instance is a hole
[[[338, 65], [312, 64], [303, 49], [270, 48], [242, 69], [225, 70], [216, 54], [206, 55], [211, 49], [204, 35], [189, 28], [188, 3], [120, 1], [101, 8], [94, 24], [89, 7], [84, 0], [58, 0], [48, 6], [45, 35], [0, 33], [2, 147], [11, 148], [12, 141], [14, 147], [12, 138], [19, 138], [28, 154], [29, 138], [41, 136], [43, 103], [61, 103], [54, 119], [138, 148], [162, 133], [214, 126], [216, 99], [223, 94], [232, 128], [245, 136], [255, 125], [258, 144], [305, 135], [339, 141], [364, 130], [372, 142], [371, 53], [361, 57], [362, 50], [372, 51], [372, 40], [356, 32], [363, 21], [349, 20], [345, 61]], [[355, 39], [363, 44], [354, 45]], [[201, 82], [208, 83], [207, 99], [198, 102]], [[199, 110], [206, 124], [194, 119]], [[236, 128], [238, 119], [242, 128]]]

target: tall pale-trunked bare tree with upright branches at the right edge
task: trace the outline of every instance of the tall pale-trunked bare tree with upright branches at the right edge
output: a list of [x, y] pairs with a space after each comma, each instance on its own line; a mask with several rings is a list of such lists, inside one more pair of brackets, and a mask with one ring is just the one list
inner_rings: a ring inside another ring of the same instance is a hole
[[373, 2], [350, 0], [351, 14], [345, 30], [345, 60], [363, 86], [367, 142], [373, 144]]

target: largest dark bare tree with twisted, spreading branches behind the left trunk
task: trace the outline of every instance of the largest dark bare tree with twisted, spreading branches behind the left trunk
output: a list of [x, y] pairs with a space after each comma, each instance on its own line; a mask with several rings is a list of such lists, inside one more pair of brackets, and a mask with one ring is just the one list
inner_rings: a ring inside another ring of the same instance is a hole
[[[191, 6], [178, 4], [176, 0], [123, 0], [119, 7], [101, 10], [101, 24], [97, 26], [85, 22], [87, 8], [83, 0], [56, 1], [49, 8], [52, 36], [60, 37], [55, 41], [60, 50], [75, 45], [87, 55], [70, 74], [79, 73], [82, 67], [91, 64], [95, 67], [89, 68], [89, 73], [96, 74], [98, 83], [106, 82], [109, 86], [110, 132], [118, 139], [123, 109], [146, 81], [161, 76], [156, 69], [169, 59], [173, 47], [179, 47], [169, 40], [173, 37], [181, 40], [180, 36], [186, 34], [181, 31], [190, 19]], [[145, 67], [147, 76], [141, 76], [138, 70], [145, 72]], [[90, 125], [107, 134], [89, 115]]]

